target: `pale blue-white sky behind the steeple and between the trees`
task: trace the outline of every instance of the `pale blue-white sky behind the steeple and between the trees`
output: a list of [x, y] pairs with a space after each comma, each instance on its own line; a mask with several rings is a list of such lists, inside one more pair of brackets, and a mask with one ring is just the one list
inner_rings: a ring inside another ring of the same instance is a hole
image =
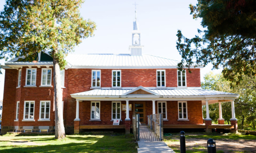
[[[137, 5], [137, 19], [140, 24], [141, 44], [144, 45], [143, 54], [158, 55], [160, 57], [181, 60], [176, 49], [177, 30], [192, 38], [197, 29], [203, 29], [201, 20], [194, 20], [190, 15], [188, 5], [197, 1], [182, 0], [87, 0], [80, 8], [85, 19], [96, 22], [95, 36], [84, 39], [75, 49], [75, 54], [87, 53], [129, 53], [132, 44], [132, 29], [134, 21], [134, 2]], [[5, 1], [0, 1], [3, 10]], [[3, 64], [5, 61], [0, 60]], [[3, 99], [3, 85], [5, 71], [0, 75], [0, 100]], [[201, 69], [201, 80], [205, 73], [212, 71], [208, 65]], [[214, 70], [219, 73], [221, 70]]]

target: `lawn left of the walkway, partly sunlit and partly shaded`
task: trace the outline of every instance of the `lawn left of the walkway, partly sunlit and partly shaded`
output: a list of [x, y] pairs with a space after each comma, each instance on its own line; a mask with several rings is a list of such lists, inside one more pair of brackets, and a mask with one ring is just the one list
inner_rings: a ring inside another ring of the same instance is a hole
[[[133, 135], [0, 136], [0, 152], [137, 152]], [[29, 141], [29, 145], [12, 145], [10, 141]]]

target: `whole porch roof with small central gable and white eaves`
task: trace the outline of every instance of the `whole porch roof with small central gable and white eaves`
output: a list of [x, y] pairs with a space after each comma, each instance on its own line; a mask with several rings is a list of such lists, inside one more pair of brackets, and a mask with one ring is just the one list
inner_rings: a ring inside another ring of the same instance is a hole
[[[138, 90], [149, 94], [134, 94]], [[71, 94], [71, 97], [80, 100], [202, 100], [203, 105], [205, 100], [212, 104], [231, 101], [238, 96], [229, 92], [205, 89], [148, 89], [142, 86], [134, 89], [93, 89]]]

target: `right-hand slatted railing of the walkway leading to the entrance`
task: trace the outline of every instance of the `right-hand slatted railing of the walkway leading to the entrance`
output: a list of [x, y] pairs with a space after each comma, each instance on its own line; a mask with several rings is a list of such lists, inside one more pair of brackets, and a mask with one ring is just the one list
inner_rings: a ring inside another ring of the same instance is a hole
[[152, 114], [147, 116], [147, 124], [162, 141], [164, 137], [163, 114]]

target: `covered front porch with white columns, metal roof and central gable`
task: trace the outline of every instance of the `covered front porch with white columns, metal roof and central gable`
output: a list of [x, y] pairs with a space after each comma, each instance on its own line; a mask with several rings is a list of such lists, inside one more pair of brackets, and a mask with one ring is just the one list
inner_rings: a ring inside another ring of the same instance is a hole
[[[163, 113], [164, 128], [204, 128], [206, 132], [212, 131], [212, 128], [231, 128], [237, 131], [233, 100], [238, 95], [232, 93], [203, 89], [149, 89], [140, 86], [133, 89], [94, 89], [71, 94], [71, 97], [77, 101], [74, 133], [79, 133], [80, 129], [125, 129], [129, 133], [134, 113], [142, 114], [142, 124], [147, 124], [147, 115]], [[219, 124], [212, 124], [209, 104], [221, 105], [228, 101], [232, 103], [231, 125], [223, 124], [221, 111]], [[114, 104], [116, 109], [113, 109]], [[206, 105], [204, 121], [202, 105]], [[92, 119], [92, 110], [89, 110], [95, 108], [98, 111], [95, 115], [100, 116], [98, 119]], [[120, 116], [119, 126], [113, 125], [113, 110], [120, 111], [115, 114]]]

